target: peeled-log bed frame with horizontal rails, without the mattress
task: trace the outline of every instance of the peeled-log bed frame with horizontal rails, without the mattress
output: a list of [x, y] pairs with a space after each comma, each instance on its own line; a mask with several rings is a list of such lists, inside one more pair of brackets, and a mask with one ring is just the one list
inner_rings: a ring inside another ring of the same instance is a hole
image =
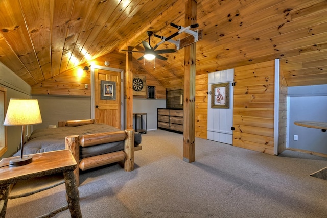
[[[95, 124], [97, 119], [68, 120], [59, 121], [58, 127], [81, 126]], [[107, 154], [83, 158], [80, 160], [80, 146], [95, 146], [97, 144], [109, 143], [124, 140], [124, 150]], [[116, 132], [95, 133], [86, 135], [70, 135], [65, 137], [65, 149], [69, 149], [73, 154], [77, 168], [74, 171], [76, 183], [79, 185], [79, 170], [87, 170], [110, 163], [124, 161], [124, 169], [127, 172], [134, 169], [134, 151], [142, 149], [142, 146], [134, 147], [134, 129], [120, 130]]]

